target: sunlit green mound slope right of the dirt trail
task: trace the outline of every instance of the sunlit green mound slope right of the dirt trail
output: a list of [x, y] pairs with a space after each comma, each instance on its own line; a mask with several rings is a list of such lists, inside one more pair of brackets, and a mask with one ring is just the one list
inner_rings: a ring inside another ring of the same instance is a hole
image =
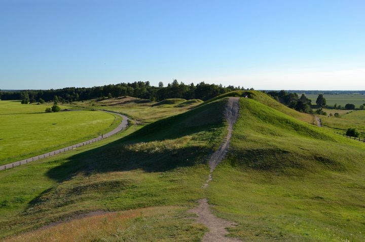
[[209, 202], [243, 241], [363, 241], [364, 154], [364, 144], [241, 98]]

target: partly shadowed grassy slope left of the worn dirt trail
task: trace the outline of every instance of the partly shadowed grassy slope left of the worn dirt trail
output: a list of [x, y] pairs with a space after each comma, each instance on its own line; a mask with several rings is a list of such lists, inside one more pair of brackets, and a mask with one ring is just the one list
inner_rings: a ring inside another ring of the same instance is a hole
[[[0, 234], [15, 234], [97, 210], [174, 205], [178, 208], [161, 220], [184, 217], [178, 211], [187, 211], [203, 196], [207, 159], [226, 132], [226, 103], [226, 99], [211, 102], [105, 146], [0, 173]], [[187, 230], [181, 236], [191, 232], [195, 237], [204, 230], [193, 220], [166, 226], [165, 232], [155, 228], [157, 240], [158, 230], [170, 234], [168, 241], [178, 239], [180, 230]], [[137, 234], [143, 234], [140, 229], [144, 228], [137, 226]]]

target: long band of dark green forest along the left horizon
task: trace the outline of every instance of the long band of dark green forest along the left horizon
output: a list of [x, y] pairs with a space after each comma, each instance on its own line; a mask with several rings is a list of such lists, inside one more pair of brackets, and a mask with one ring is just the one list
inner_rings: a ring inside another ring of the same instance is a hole
[[132, 96], [152, 101], [161, 101], [166, 98], [185, 98], [207, 100], [217, 95], [243, 89], [241, 87], [206, 84], [201, 82], [186, 85], [173, 80], [164, 87], [160, 82], [158, 87], [151, 86], [150, 82], [120, 83], [96, 87], [67, 87], [50, 90], [21, 90], [21, 91], [1, 91], [2, 100], [27, 100], [29, 102], [42, 101], [62, 101], [72, 102], [88, 100], [100, 97]]

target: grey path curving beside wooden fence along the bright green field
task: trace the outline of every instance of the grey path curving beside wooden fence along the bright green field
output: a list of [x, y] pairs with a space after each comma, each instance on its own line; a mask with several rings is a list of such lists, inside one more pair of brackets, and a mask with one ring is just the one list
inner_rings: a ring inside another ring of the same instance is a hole
[[125, 128], [128, 127], [129, 118], [127, 116], [125, 116], [123, 114], [115, 113], [115, 112], [105, 111], [105, 110], [101, 110], [101, 111], [105, 112], [105, 113], [116, 114], [116, 115], [121, 116], [122, 117], [122, 122], [118, 125], [118, 127], [113, 129], [112, 131], [107, 132], [105, 134], [102, 134], [102, 135], [100, 135], [100, 136], [98, 136], [94, 139], [84, 141], [84, 142], [81, 142], [81, 143], [78, 143], [78, 144], [75, 144], [75, 145], [67, 146], [67, 147], [62, 148], [62, 149], [50, 151], [50, 152], [47, 152], [47, 153], [44, 153], [44, 154], [41, 154], [41, 155], [36, 155], [36, 156], [30, 157], [30, 158], [27, 158], [27, 159], [24, 159], [24, 160], [18, 160], [18, 161], [9, 163], [9, 164], [0, 165], [0, 170], [10, 169], [10, 168], [13, 168], [13, 167], [16, 167], [16, 166], [19, 166], [19, 165], [27, 164], [27, 163], [32, 162], [32, 161], [41, 160], [41, 159], [44, 159], [44, 158], [47, 158], [47, 157], [50, 157], [50, 156], [53, 156], [53, 155], [56, 155], [56, 154], [59, 154], [59, 153], [63, 153], [63, 152], [66, 152], [68, 150], [74, 150], [78, 147], [85, 146], [85, 145], [88, 145], [88, 144], [91, 144], [91, 143], [106, 139], [106, 138], [108, 138], [108, 137], [110, 137], [110, 136], [112, 136], [112, 135], [114, 135], [114, 134], [116, 134], [116, 133], [118, 133], [118, 132], [120, 132], [120, 131], [122, 131], [122, 130], [124, 130]]

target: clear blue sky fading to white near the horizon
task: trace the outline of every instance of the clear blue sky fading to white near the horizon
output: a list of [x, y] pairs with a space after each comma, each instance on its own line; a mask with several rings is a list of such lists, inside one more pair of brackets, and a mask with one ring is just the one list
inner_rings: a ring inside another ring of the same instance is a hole
[[0, 0], [0, 89], [365, 90], [365, 1]]

